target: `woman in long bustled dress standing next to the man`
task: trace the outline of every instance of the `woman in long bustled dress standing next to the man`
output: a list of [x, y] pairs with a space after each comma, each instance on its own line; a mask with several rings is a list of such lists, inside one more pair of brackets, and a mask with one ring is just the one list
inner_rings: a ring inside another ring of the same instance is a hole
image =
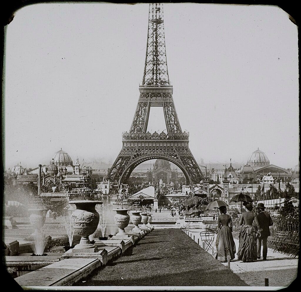
[[257, 260], [257, 231], [253, 226], [255, 214], [252, 212], [252, 203], [244, 203], [247, 212], [240, 216], [239, 225], [242, 225], [239, 232], [238, 259], [243, 262], [253, 262]]

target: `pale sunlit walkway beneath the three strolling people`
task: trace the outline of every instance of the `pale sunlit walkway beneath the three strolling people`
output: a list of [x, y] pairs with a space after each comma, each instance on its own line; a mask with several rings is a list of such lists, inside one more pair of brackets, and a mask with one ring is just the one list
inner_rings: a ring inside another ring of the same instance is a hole
[[[192, 238], [194, 236], [196, 242], [199, 238], [199, 244], [202, 246], [200, 231], [203, 230], [191, 229], [189, 236], [190, 234]], [[215, 239], [216, 235], [213, 243], [214, 257], [216, 256]], [[237, 252], [239, 241], [234, 238], [234, 242]], [[212, 249], [210, 250], [210, 254], [212, 254]], [[228, 266], [228, 263], [222, 264]], [[297, 276], [298, 258], [293, 258], [279, 252], [273, 253], [273, 250], [268, 248], [266, 261], [259, 259], [256, 262], [246, 263], [238, 260], [237, 254], [235, 254], [235, 259], [231, 261], [230, 268], [250, 286], [264, 286], [265, 278], [268, 278], [269, 286], [286, 287], [289, 286]]]

